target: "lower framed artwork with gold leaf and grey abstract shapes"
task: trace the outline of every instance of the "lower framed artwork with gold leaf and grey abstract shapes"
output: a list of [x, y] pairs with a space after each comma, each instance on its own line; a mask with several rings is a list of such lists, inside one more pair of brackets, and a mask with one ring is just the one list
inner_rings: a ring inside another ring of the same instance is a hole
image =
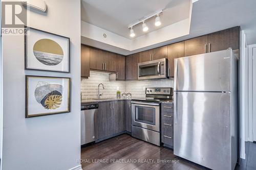
[[26, 117], [70, 112], [70, 78], [26, 76]]

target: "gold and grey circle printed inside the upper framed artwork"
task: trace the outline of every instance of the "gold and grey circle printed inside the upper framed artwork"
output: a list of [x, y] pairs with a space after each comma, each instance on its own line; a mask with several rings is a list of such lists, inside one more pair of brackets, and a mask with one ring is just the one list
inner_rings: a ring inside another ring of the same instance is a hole
[[57, 65], [63, 59], [61, 46], [51, 39], [40, 39], [33, 46], [35, 58], [45, 65]]

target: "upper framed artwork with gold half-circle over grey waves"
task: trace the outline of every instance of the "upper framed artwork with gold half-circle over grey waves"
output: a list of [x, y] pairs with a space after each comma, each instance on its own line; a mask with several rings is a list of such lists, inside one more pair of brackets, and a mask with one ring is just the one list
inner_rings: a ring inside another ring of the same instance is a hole
[[70, 38], [25, 27], [25, 69], [69, 72]]

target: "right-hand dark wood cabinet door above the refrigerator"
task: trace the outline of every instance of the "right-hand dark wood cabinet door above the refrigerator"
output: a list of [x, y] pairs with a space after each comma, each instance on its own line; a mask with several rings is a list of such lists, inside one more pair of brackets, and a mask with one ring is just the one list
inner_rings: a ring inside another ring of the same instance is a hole
[[208, 34], [208, 53], [221, 50], [227, 50], [231, 47], [233, 50], [239, 49], [240, 27], [234, 27], [222, 30], [216, 33]]

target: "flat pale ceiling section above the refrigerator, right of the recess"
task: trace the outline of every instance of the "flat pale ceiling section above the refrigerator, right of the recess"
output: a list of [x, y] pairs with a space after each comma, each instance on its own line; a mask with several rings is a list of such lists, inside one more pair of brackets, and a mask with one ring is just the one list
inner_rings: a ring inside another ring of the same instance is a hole
[[248, 44], [256, 43], [255, 0], [199, 0], [193, 4], [191, 35], [234, 26], [241, 26], [245, 31]]

